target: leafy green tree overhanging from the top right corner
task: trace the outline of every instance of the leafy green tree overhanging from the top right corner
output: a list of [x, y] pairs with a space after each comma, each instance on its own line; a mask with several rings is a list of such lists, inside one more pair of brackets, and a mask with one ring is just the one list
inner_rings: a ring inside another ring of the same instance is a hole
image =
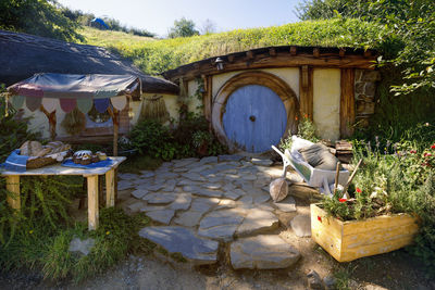
[[403, 84], [391, 90], [400, 94], [435, 88], [433, 0], [308, 0], [296, 10], [301, 20], [339, 16], [378, 23], [388, 31], [378, 46], [393, 52], [383, 62], [403, 67]]

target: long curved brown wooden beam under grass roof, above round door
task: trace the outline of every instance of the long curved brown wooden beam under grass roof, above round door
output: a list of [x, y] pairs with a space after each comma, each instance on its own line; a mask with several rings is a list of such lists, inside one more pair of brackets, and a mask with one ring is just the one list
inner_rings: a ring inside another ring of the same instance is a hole
[[314, 58], [312, 53], [297, 53], [295, 56], [289, 58], [289, 52], [279, 52], [276, 56], [271, 58], [269, 53], [256, 54], [254, 60], [249, 61], [247, 64], [246, 58], [237, 58], [234, 62], [226, 62], [223, 71], [217, 71], [214, 63], [203, 62], [200, 64], [200, 70], [178, 70], [169, 71], [165, 77], [170, 80], [177, 80], [181, 76], [185, 80], [192, 80], [201, 74], [216, 75], [243, 70], [260, 70], [260, 68], [281, 68], [281, 67], [300, 67], [308, 65], [310, 67], [325, 67], [325, 68], [361, 68], [374, 70], [375, 58], [362, 58], [362, 55], [345, 55], [340, 58], [338, 53], [335, 55], [321, 54]]

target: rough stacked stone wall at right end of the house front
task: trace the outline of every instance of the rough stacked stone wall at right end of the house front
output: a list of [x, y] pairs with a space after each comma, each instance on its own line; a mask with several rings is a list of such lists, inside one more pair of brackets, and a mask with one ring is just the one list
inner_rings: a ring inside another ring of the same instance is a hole
[[360, 126], [368, 126], [374, 114], [376, 81], [381, 80], [378, 71], [355, 71], [356, 121]]

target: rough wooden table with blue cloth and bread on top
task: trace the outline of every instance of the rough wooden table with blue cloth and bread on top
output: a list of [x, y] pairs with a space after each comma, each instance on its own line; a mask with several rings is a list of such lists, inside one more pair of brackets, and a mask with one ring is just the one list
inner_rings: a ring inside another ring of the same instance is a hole
[[21, 209], [20, 198], [20, 176], [39, 176], [39, 175], [82, 175], [88, 182], [88, 226], [89, 230], [98, 227], [98, 176], [105, 175], [105, 206], [115, 205], [115, 169], [126, 157], [110, 157], [113, 164], [107, 167], [82, 169], [65, 167], [60, 164], [45, 166], [37, 169], [27, 169], [26, 172], [0, 172], [7, 178], [7, 189], [13, 193], [8, 198], [11, 207]]

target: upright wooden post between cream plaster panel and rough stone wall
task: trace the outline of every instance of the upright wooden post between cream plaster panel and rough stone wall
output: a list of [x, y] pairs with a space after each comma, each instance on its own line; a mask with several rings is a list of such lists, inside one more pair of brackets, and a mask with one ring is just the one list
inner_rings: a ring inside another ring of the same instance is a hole
[[341, 70], [340, 93], [340, 135], [341, 138], [353, 134], [355, 123], [355, 70]]

